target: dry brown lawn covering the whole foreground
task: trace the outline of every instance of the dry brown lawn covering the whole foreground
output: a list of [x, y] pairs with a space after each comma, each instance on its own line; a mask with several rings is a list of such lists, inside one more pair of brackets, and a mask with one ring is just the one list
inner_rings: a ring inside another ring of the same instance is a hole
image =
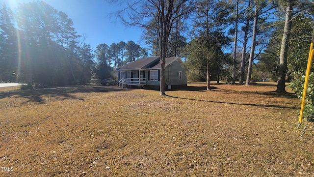
[[0, 176], [314, 176], [314, 124], [300, 137], [298, 98], [211, 86], [2, 91]]

